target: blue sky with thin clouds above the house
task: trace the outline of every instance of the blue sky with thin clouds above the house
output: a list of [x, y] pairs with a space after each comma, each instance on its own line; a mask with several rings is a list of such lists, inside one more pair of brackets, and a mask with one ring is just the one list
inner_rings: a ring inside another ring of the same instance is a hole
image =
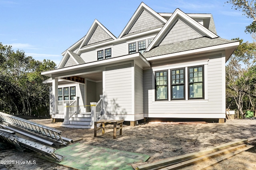
[[[226, 0], [144, 0], [156, 12], [212, 14], [218, 36], [242, 38], [252, 19], [233, 10]], [[36, 60], [57, 65], [61, 53], [86, 35], [97, 19], [116, 37], [120, 35], [140, 0], [0, 0], [0, 42], [25, 51]]]

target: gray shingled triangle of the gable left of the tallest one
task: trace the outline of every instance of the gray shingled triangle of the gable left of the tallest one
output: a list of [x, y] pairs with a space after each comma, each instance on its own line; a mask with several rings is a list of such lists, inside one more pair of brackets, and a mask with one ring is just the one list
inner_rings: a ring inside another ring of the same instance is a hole
[[90, 40], [86, 45], [112, 39], [100, 26], [97, 26]]

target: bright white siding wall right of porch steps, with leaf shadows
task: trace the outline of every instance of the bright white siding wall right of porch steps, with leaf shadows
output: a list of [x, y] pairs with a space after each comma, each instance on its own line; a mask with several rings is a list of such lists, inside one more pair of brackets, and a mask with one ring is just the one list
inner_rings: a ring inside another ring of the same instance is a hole
[[129, 120], [132, 111], [132, 68], [131, 63], [106, 67], [105, 73], [105, 101], [106, 119]]

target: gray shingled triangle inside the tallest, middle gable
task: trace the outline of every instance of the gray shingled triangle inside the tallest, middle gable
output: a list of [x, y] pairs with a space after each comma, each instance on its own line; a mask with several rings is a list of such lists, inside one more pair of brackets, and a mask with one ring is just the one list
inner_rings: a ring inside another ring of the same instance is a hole
[[140, 14], [138, 19], [128, 32], [128, 34], [160, 25], [162, 25], [161, 22], [159, 22], [156, 18], [154, 18], [152, 15], [148, 14], [148, 12], [143, 10], [143, 12]]

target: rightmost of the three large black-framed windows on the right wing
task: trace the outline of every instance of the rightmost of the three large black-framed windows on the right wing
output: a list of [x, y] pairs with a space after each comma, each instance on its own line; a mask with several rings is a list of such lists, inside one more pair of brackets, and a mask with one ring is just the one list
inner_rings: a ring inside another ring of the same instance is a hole
[[188, 67], [188, 99], [204, 99], [204, 66]]

